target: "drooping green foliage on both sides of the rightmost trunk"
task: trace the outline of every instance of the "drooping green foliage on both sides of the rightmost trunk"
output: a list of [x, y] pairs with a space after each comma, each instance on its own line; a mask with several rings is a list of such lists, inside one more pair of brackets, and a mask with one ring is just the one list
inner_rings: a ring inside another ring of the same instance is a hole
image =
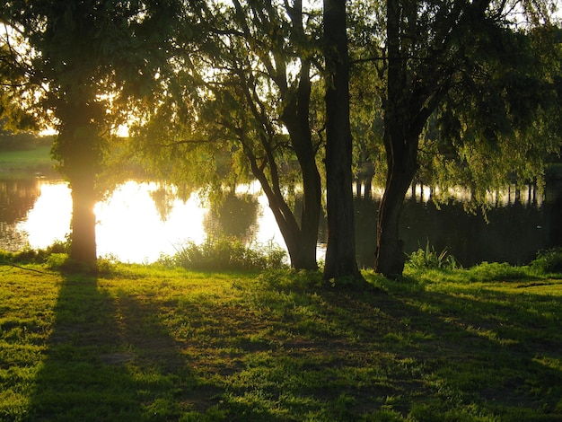
[[[411, 130], [419, 127], [416, 178], [441, 188], [443, 198], [436, 199], [446, 200], [446, 188], [461, 185], [472, 189], [472, 200], [480, 205], [487, 189], [515, 178], [520, 183], [542, 179], [545, 159], [559, 154], [562, 140], [557, 129], [561, 30], [550, 23], [541, 2], [525, 2], [524, 13], [533, 16], [525, 24], [506, 7], [401, 2], [400, 15], [408, 18], [398, 23], [397, 57], [386, 51], [384, 4], [350, 7], [356, 160], [375, 163], [382, 184], [387, 170], [382, 137], [388, 129], [382, 118], [392, 106], [385, 86], [393, 58], [408, 74], [399, 86], [408, 106], [398, 117], [411, 117]], [[417, 120], [423, 115], [425, 121]]]

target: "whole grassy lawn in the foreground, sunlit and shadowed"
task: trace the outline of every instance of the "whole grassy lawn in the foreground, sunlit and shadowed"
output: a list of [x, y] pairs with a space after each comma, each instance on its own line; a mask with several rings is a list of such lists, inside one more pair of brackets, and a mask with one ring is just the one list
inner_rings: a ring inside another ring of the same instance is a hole
[[0, 419], [562, 420], [562, 279], [0, 267]]

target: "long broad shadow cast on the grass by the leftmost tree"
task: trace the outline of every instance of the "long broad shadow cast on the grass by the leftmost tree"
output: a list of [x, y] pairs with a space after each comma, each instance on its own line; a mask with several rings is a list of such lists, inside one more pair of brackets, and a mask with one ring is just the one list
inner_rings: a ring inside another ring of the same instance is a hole
[[[189, 366], [154, 309], [98, 285], [96, 277], [64, 280], [26, 420], [159, 420], [180, 410], [165, 404], [181, 396]], [[170, 380], [169, 369], [183, 375]]]

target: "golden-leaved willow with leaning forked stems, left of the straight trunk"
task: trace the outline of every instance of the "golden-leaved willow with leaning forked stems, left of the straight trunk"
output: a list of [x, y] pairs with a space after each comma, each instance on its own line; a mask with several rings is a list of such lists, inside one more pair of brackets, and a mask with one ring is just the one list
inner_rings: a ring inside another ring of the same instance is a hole
[[[209, 2], [193, 19], [198, 31], [176, 57], [170, 94], [136, 132], [145, 133], [158, 163], [175, 163], [166, 172], [178, 184], [198, 180], [220, 189], [250, 173], [268, 198], [291, 265], [316, 269], [318, 13], [304, 10], [300, 0], [233, 0]], [[154, 140], [165, 145], [160, 153]], [[303, 202], [294, 211], [291, 196], [299, 185]]]

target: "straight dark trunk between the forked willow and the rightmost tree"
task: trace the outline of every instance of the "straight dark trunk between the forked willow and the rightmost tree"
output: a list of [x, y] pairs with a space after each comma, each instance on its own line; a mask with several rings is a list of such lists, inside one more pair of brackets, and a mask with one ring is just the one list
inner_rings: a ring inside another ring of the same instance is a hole
[[324, 279], [363, 280], [356, 262], [346, 0], [324, 0], [328, 244]]

